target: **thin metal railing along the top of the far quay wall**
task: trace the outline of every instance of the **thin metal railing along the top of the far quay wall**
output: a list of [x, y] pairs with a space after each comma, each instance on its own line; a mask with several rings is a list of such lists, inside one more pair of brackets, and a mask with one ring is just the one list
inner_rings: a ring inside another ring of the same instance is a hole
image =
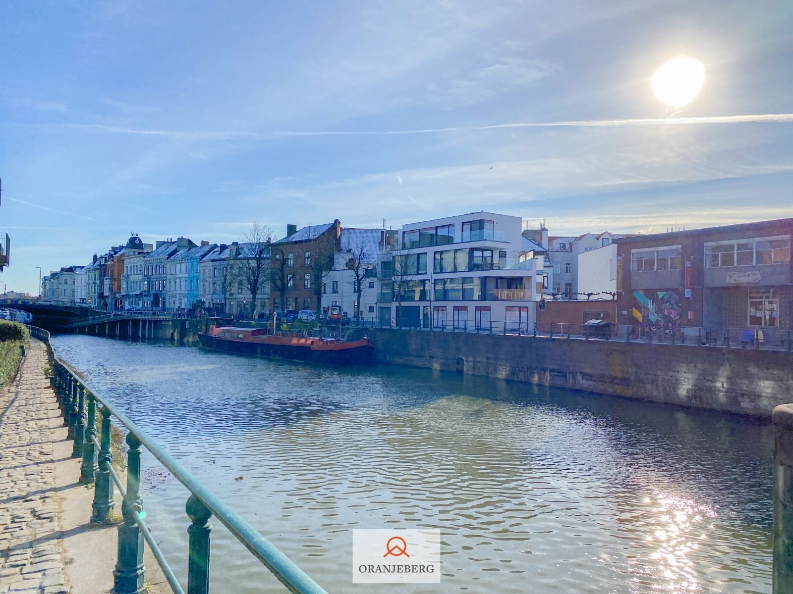
[[475, 319], [433, 320], [395, 318], [393, 323], [378, 318], [351, 319], [358, 328], [420, 329], [433, 332], [503, 334], [537, 338], [569, 338], [584, 341], [623, 341], [662, 345], [688, 345], [722, 348], [753, 348], [764, 351], [793, 352], [793, 330], [775, 328], [718, 328], [680, 326], [656, 328], [625, 324], [569, 324], [561, 322], [492, 321]]

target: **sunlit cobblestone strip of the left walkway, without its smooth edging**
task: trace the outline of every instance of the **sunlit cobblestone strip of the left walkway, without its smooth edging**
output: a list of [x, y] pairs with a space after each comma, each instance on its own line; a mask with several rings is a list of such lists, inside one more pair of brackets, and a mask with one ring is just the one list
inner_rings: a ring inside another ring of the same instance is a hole
[[52, 454], [59, 411], [47, 366], [44, 344], [32, 338], [17, 379], [0, 388], [0, 594], [69, 592]]

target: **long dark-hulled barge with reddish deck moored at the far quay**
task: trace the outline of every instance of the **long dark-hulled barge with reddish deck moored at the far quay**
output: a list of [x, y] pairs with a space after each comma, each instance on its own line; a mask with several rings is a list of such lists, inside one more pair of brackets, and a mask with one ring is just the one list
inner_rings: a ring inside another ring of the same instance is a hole
[[333, 365], [374, 364], [374, 345], [368, 338], [343, 341], [289, 332], [270, 334], [266, 328], [219, 326], [209, 332], [198, 333], [198, 340], [210, 351], [277, 356]]

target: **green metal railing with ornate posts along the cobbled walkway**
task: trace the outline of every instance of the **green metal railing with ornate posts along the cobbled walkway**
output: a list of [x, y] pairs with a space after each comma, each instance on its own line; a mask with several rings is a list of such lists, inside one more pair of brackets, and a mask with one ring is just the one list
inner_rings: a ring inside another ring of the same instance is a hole
[[[140, 451], [141, 446], [163, 464], [171, 474], [190, 491], [185, 511], [190, 518], [187, 533], [190, 539], [190, 554], [187, 562], [187, 594], [207, 594], [209, 592], [209, 535], [212, 524], [209, 519], [215, 516], [221, 524], [231, 531], [251, 554], [278, 578], [294, 594], [327, 594], [315, 581], [289, 560], [272, 543], [265, 539], [254, 527], [247, 524], [232, 508], [216, 497], [207, 487], [193, 477], [174, 458], [147, 436], [124, 413], [115, 409], [106, 398], [77, 375], [56, 355], [50, 343], [47, 330], [27, 326], [30, 335], [43, 341], [47, 346], [52, 375], [50, 382], [55, 390], [59, 408], [63, 410], [63, 425], [67, 435], [74, 440], [72, 455], [82, 457], [80, 482], [94, 483], [94, 502], [91, 522], [103, 524], [115, 505], [113, 486], [115, 485], [123, 501], [121, 514], [123, 524], [118, 527], [118, 557], [113, 570], [113, 592], [115, 594], [143, 594], [144, 588], [144, 542], [151, 549], [163, 574], [176, 594], [185, 594], [173, 570], [155, 543], [148, 530], [144, 517], [143, 501], [140, 494]], [[100, 427], [96, 426], [99, 405]], [[111, 450], [111, 417], [127, 429], [127, 481], [122, 484], [113, 468]]]

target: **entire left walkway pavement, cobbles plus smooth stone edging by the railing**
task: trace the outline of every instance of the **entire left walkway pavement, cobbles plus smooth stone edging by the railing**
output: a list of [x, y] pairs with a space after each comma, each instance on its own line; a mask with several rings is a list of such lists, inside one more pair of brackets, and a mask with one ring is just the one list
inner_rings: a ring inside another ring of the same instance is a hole
[[[109, 592], [117, 528], [90, 524], [94, 485], [79, 483], [81, 459], [71, 456], [48, 366], [44, 344], [31, 338], [17, 378], [0, 388], [0, 594]], [[162, 592], [146, 553], [148, 591]]]

